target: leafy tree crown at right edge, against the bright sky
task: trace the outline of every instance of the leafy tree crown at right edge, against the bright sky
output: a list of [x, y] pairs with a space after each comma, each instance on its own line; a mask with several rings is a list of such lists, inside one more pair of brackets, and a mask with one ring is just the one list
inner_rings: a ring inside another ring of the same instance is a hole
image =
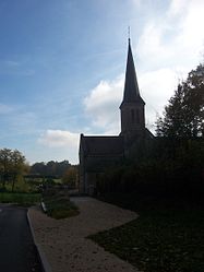
[[204, 137], [204, 64], [197, 66], [178, 85], [156, 126], [159, 137]]

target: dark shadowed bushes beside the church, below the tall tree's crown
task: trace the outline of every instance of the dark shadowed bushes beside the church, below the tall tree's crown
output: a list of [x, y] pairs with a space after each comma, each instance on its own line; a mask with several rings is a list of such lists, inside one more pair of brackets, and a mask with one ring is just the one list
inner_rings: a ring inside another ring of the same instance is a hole
[[204, 189], [204, 141], [157, 141], [152, 156], [107, 169], [97, 191], [201, 197]]

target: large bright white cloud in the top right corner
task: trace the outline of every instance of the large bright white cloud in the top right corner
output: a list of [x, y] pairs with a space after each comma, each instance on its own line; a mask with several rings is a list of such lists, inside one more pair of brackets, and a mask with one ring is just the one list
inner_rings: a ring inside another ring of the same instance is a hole
[[143, 62], [151, 69], [193, 69], [204, 50], [203, 11], [203, 0], [172, 0], [164, 14], [147, 21], [137, 45]]

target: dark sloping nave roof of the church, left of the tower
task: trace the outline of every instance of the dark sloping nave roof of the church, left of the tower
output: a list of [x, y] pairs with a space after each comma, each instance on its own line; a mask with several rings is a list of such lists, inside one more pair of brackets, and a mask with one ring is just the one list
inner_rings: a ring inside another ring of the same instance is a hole
[[116, 156], [123, 154], [122, 137], [106, 135], [81, 135], [81, 147], [85, 155], [109, 155]]

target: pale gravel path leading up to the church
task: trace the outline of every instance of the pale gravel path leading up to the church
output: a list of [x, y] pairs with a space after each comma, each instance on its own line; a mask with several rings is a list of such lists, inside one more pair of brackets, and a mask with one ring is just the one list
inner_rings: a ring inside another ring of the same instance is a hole
[[39, 209], [28, 214], [36, 240], [52, 272], [133, 272], [131, 264], [86, 239], [91, 234], [122, 225], [137, 217], [134, 212], [88, 198], [73, 198], [80, 215], [53, 220]]

